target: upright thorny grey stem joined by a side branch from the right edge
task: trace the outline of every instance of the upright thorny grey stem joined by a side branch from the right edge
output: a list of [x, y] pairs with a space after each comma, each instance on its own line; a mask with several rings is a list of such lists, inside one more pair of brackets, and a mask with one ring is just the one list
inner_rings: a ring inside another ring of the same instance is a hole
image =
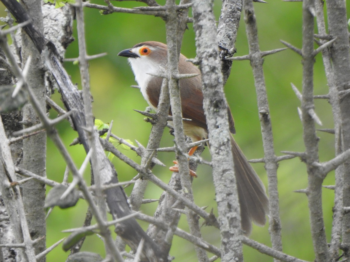
[[315, 122], [311, 117], [314, 110], [313, 70], [314, 70], [314, 1], [303, 1], [303, 43], [302, 43], [302, 124], [303, 139], [306, 148], [308, 172], [308, 205], [310, 213], [311, 235], [317, 261], [330, 261], [322, 212], [322, 182], [314, 163], [318, 163], [318, 137]]

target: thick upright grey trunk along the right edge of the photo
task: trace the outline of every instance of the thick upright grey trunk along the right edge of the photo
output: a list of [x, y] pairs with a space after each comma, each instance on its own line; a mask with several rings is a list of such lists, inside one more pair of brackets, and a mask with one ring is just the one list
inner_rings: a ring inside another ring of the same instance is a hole
[[[349, 90], [350, 78], [350, 55], [349, 55], [349, 32], [346, 21], [346, 4], [344, 0], [327, 1], [327, 17], [329, 34], [336, 38], [330, 48], [332, 65], [334, 71], [335, 94], [340, 97], [340, 130], [338, 133], [341, 151], [350, 148], [350, 97], [342, 95], [342, 92]], [[343, 206], [350, 206], [350, 161], [343, 165], [344, 180], [343, 185]], [[339, 189], [340, 190], [340, 189]], [[339, 199], [340, 200], [340, 199]], [[350, 249], [350, 213], [343, 217], [343, 248]]]

